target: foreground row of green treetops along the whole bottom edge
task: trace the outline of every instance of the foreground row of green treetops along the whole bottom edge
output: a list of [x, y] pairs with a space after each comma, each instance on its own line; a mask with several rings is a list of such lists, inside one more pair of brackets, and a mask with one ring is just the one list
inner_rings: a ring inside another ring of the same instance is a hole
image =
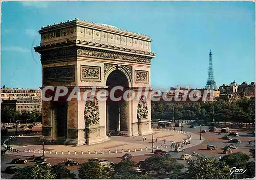
[[[221, 160], [213, 157], [197, 155], [194, 160], [187, 161], [186, 168], [179, 164], [171, 155], [153, 155], [145, 159], [141, 166], [142, 173], [137, 173], [135, 163], [122, 160], [109, 168], [102, 167], [97, 162], [86, 162], [78, 169], [81, 179], [236, 179], [255, 176], [255, 162], [249, 162], [250, 157], [241, 152], [232, 153]], [[230, 168], [247, 169], [244, 174], [230, 174]], [[144, 172], [144, 173], [143, 173]], [[147, 173], [145, 173], [147, 172]], [[51, 179], [75, 178], [69, 169], [57, 165], [40, 167], [28, 166], [16, 172], [15, 179]]]

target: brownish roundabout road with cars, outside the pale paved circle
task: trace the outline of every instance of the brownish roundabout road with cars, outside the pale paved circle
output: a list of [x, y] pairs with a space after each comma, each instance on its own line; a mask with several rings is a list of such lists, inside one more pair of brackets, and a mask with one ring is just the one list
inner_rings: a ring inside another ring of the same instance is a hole
[[[191, 132], [191, 133], [194, 133], [194, 134], [200, 134], [200, 128], [199, 126], [196, 126], [196, 128], [188, 128], [189, 125], [185, 125], [184, 128], [182, 128], [183, 131], [186, 131], [186, 132]], [[208, 130], [208, 126], [201, 126], [201, 130]], [[239, 137], [237, 137], [238, 139], [240, 139], [242, 141], [241, 144], [236, 144], [238, 146], [238, 149], [233, 149], [232, 151], [233, 152], [238, 152], [238, 151], [241, 151], [241, 152], [244, 152], [244, 153], [249, 153], [249, 149], [251, 147], [253, 147], [254, 145], [254, 140], [255, 140], [255, 137], [250, 134], [249, 132], [245, 132], [245, 131], [242, 131], [242, 130], [233, 130], [233, 129], [230, 129], [232, 132], [238, 132], [239, 133]], [[217, 128], [217, 132], [219, 132], [220, 129]], [[207, 157], [216, 157], [216, 158], [219, 158], [220, 156], [223, 156], [224, 154], [222, 153], [222, 149], [223, 147], [225, 147], [226, 145], [230, 144], [228, 142], [228, 140], [222, 140], [222, 136], [224, 135], [227, 135], [227, 134], [217, 134], [217, 133], [201, 133], [202, 137], [204, 140], [202, 140], [202, 143], [196, 145], [196, 146], [193, 146], [193, 147], [190, 147], [190, 148], [187, 148], [185, 149], [184, 152], [173, 152], [172, 153], [172, 157], [177, 159], [179, 163], [182, 163], [185, 165], [185, 161], [183, 160], [180, 160], [180, 157], [181, 155], [185, 154], [185, 153], [191, 153], [193, 151], [197, 152], [197, 153], [201, 153], [202, 155], [205, 155]], [[199, 136], [198, 136], [199, 137]], [[251, 144], [248, 143], [248, 141], [251, 140]], [[216, 150], [206, 150], [206, 146], [207, 145], [215, 145], [217, 146], [217, 149]], [[185, 147], [185, 146], [184, 146]], [[168, 149], [169, 150], [169, 149]], [[174, 149], [172, 149], [174, 150]], [[133, 154], [133, 152], [131, 152], [131, 154]], [[95, 155], [97, 156], [97, 155]], [[113, 154], [104, 154], [103, 155], [98, 155], [99, 159], [108, 159], [109, 161], [113, 161], [115, 163], [118, 163], [121, 161], [121, 156], [122, 154], [120, 153], [120, 157], [113, 157]], [[152, 156], [152, 153], [150, 151], [148, 151], [148, 153], [144, 154], [144, 155], [140, 155], [139, 152], [136, 152], [136, 156], [134, 157], [134, 161], [137, 163], [139, 161], [142, 161], [148, 157]], [[3, 171], [5, 170], [5, 168], [7, 166], [11, 166], [11, 164], [9, 164], [12, 159], [15, 159], [15, 158], [26, 158], [26, 157], [19, 157], [19, 156], [11, 156], [11, 155], [7, 155], [5, 157], [1, 157], [2, 160], [1, 160], [1, 171], [2, 171], [2, 178], [10, 178], [12, 175], [10, 174], [5, 174], [3, 173]], [[72, 158], [74, 160], [77, 160], [79, 161], [79, 163], [83, 163], [83, 162], [86, 162], [88, 161], [88, 159], [90, 158], [86, 158], [86, 157], [82, 157], [82, 158]], [[65, 158], [47, 158], [47, 162], [48, 163], [51, 163], [52, 165], [57, 165], [59, 163], [61, 163], [62, 161], [65, 161]], [[251, 161], [254, 161], [253, 159], [251, 159]], [[15, 166], [18, 166], [18, 167], [24, 167], [24, 166], [27, 166], [27, 165], [33, 165], [34, 162], [32, 161], [29, 161], [27, 164], [22, 164], [22, 165], [15, 165]], [[73, 172], [75, 172], [76, 174], [78, 174], [78, 171], [77, 171], [77, 168], [80, 167], [80, 166], [70, 166], [70, 167], [67, 167], [68, 169], [72, 170]]]

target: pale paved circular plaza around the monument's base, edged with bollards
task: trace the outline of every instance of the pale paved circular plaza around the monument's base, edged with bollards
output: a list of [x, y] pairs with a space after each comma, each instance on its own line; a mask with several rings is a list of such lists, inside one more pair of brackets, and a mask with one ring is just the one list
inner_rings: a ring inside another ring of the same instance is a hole
[[[154, 139], [155, 137], [157, 138], [157, 142], [154, 142], [154, 149], [156, 149], [156, 146], [158, 148], [161, 148], [163, 150], [174, 150], [174, 148], [170, 148], [171, 141], [176, 141], [177, 139], [184, 139], [182, 136], [186, 136], [184, 134], [176, 133], [176, 132], [169, 132], [169, 131], [158, 131], [154, 130]], [[190, 144], [183, 145], [184, 149], [190, 148], [192, 146], [198, 145], [203, 142], [203, 140], [199, 140], [200, 136], [194, 133], [190, 133], [192, 136], [192, 139], [190, 141]], [[84, 146], [78, 146], [78, 147], [73, 147], [73, 146], [66, 146], [66, 145], [57, 145], [57, 146], [45, 146], [45, 157], [48, 158], [79, 158], [79, 157], [90, 157], [90, 158], [96, 158], [96, 157], [106, 157], [106, 156], [111, 156], [111, 157], [120, 157], [124, 153], [131, 153], [134, 156], [139, 156], [139, 155], [152, 155], [152, 139], [151, 135], [146, 136], [147, 139], [146, 141], [142, 141], [142, 137], [120, 137], [120, 136], [113, 136], [111, 137], [111, 140], [106, 141], [104, 143], [100, 144], [94, 144], [94, 145], [84, 145]], [[166, 145], [167, 148], [165, 148], [164, 144], [164, 139], [166, 140]], [[13, 140], [12, 140], [13, 141]], [[9, 144], [9, 143], [8, 143]], [[15, 146], [15, 145], [14, 145]], [[17, 146], [16, 146], [17, 147]], [[101, 148], [98, 148], [101, 147]], [[97, 154], [95, 154], [95, 150], [97, 149]], [[136, 148], [136, 151], [135, 151]], [[41, 156], [42, 155], [42, 146], [38, 145], [30, 145], [26, 146], [26, 151], [24, 151], [24, 147], [18, 147], [20, 152], [7, 152], [10, 155], [16, 155], [16, 156]], [[28, 152], [28, 149], [30, 151]], [[37, 151], [34, 151], [33, 149], [41, 149], [40, 153]], [[88, 151], [90, 150], [90, 154]], [[100, 150], [101, 149], [101, 150]], [[130, 149], [130, 150], [129, 150]], [[103, 150], [103, 154], [102, 154]], [[111, 153], [109, 153], [109, 150]], [[116, 153], [117, 150], [117, 153]], [[123, 151], [122, 151], [123, 150]], [[49, 153], [51, 151], [51, 153]], [[57, 151], [57, 154], [56, 152]], [[63, 151], [61, 153], [61, 151]], [[68, 153], [70, 151], [70, 153]], [[81, 153], [83, 152], [83, 154]]]

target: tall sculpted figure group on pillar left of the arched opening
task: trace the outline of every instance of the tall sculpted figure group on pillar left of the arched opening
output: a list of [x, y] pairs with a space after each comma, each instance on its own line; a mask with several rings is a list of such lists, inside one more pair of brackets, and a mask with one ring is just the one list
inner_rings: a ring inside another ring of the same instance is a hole
[[86, 126], [99, 124], [99, 101], [96, 97], [89, 98], [84, 106], [84, 123]]

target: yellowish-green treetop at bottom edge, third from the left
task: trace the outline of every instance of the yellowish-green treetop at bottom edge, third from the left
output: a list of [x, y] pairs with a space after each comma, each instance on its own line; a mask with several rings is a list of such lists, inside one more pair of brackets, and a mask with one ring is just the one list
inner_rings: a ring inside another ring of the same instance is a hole
[[108, 179], [109, 173], [97, 162], [82, 163], [78, 168], [78, 177], [80, 179]]

